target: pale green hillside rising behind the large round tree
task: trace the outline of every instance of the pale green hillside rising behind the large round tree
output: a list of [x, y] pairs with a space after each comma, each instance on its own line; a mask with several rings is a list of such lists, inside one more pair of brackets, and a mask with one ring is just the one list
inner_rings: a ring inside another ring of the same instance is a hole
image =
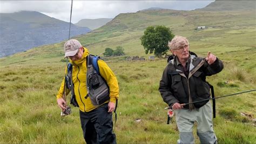
[[[114, 49], [117, 46], [122, 46], [126, 55], [149, 56], [145, 54], [139, 38], [142, 37], [146, 27], [165, 25], [170, 27], [175, 35], [187, 37], [193, 45], [193, 49], [200, 48], [201, 51], [207, 51], [209, 47], [216, 45], [216, 51], [230, 52], [234, 51], [233, 47], [256, 47], [255, 19], [256, 15], [252, 10], [138, 11], [135, 13], [121, 13], [109, 23], [97, 28], [97, 30], [78, 35], [75, 39], [86, 46], [92, 54], [100, 56], [103, 55], [105, 48]], [[196, 30], [197, 26], [206, 26], [207, 28], [198, 31]], [[39, 57], [48, 57], [47, 60], [41, 61], [41, 63], [45, 61], [59, 62], [60, 59], [63, 59], [64, 42], [41, 46], [6, 57], [0, 61], [0, 65], [4, 63], [31, 63], [31, 59], [39, 59]], [[50, 58], [49, 55], [51, 55]], [[34, 63], [40, 63], [40, 61]]]

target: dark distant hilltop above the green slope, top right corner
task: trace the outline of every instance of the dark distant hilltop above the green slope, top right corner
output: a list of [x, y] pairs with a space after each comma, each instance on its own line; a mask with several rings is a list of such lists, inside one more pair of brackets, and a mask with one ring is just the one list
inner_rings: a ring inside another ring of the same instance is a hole
[[228, 0], [216, 0], [208, 4], [203, 9], [197, 9], [201, 11], [241, 11], [241, 10], [256, 10], [255, 0], [239, 0], [239, 1], [228, 1]]

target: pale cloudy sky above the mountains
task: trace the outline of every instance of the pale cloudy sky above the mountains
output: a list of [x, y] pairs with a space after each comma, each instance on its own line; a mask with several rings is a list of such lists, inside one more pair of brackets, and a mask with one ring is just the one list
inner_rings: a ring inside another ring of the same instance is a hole
[[[214, 0], [162, 0], [162, 1], [73, 1], [72, 23], [80, 19], [114, 18], [119, 13], [136, 12], [148, 8], [193, 10], [204, 8]], [[22, 10], [38, 11], [60, 20], [70, 19], [71, 0], [65, 1], [6, 1], [0, 0], [0, 13]]]

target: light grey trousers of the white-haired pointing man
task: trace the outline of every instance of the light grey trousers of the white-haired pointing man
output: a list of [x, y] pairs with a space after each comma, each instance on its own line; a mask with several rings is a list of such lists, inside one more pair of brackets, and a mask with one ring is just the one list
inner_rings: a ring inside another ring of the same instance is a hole
[[180, 132], [178, 143], [194, 143], [193, 126], [197, 123], [197, 135], [201, 143], [217, 143], [213, 131], [212, 104], [209, 101], [199, 109], [174, 110], [176, 123]]

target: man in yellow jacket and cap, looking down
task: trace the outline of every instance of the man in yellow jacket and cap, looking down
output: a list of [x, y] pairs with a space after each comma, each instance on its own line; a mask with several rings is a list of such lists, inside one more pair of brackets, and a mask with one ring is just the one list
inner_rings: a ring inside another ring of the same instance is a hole
[[[103, 60], [98, 60], [100, 76], [109, 86], [109, 97], [105, 103], [99, 106], [92, 104], [87, 95], [86, 73], [89, 52], [78, 40], [71, 39], [64, 45], [65, 58], [68, 57], [72, 64], [72, 83], [75, 98], [80, 110], [80, 121], [86, 143], [116, 143], [116, 136], [112, 133], [112, 112], [116, 107], [119, 97], [117, 78], [113, 71]], [[57, 103], [62, 111], [66, 110], [66, 102], [63, 99], [65, 78], [60, 85], [57, 94]], [[66, 93], [69, 93], [67, 90]]]

